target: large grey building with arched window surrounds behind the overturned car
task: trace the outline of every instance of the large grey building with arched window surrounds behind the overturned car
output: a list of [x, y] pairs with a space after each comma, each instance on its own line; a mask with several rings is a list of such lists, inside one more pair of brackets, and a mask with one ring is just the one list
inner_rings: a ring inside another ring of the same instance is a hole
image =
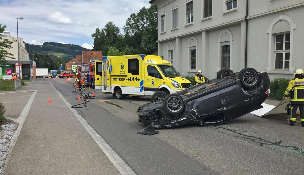
[[181, 74], [245, 67], [270, 78], [304, 69], [303, 0], [151, 0], [158, 8], [158, 55]]

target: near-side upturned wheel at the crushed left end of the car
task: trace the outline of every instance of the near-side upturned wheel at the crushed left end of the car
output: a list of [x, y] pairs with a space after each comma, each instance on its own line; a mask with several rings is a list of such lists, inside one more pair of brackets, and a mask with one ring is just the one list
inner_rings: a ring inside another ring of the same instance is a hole
[[175, 93], [166, 96], [164, 99], [164, 108], [171, 114], [180, 113], [185, 108], [183, 98]]

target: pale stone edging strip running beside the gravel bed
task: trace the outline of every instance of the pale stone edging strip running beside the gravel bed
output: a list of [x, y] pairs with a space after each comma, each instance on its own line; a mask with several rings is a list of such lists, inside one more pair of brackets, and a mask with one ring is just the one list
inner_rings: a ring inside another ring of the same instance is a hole
[[5, 165], [2, 169], [2, 172], [5, 172], [6, 169], [7, 169], [7, 166], [9, 164], [9, 161], [11, 159], [11, 156], [12, 156], [12, 152], [14, 150], [14, 146], [16, 145], [16, 142], [17, 142], [17, 139], [19, 137], [19, 134], [20, 134], [20, 131], [22, 129], [22, 126], [25, 122], [25, 119], [27, 117], [27, 114], [29, 113], [29, 109], [31, 108], [32, 104], [33, 104], [33, 101], [34, 101], [34, 98], [36, 96], [36, 93], [37, 91], [36, 90], [32, 90], [32, 91], [24, 91], [24, 92], [33, 92], [32, 96], [29, 98], [29, 101], [26, 103], [26, 105], [24, 106], [22, 112], [20, 113], [19, 117], [18, 117], [18, 122], [19, 122], [19, 125], [18, 125], [18, 128], [17, 130], [15, 131], [14, 135], [12, 136], [12, 139], [11, 139], [11, 142], [10, 142], [10, 149], [9, 149], [9, 153], [6, 157], [6, 160], [5, 160]]

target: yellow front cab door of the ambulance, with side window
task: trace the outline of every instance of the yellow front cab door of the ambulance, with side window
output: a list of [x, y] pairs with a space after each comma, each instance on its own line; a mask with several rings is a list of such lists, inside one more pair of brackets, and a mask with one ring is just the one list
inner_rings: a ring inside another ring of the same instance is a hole
[[145, 95], [151, 96], [159, 90], [158, 87], [161, 85], [161, 79], [157, 78], [157, 75], [160, 75], [160, 73], [154, 65], [146, 65], [145, 69]]

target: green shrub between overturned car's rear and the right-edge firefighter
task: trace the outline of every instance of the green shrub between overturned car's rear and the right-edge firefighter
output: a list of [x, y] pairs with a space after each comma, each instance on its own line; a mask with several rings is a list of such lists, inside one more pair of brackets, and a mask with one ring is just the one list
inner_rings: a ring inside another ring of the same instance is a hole
[[270, 81], [270, 95], [269, 97], [282, 100], [283, 94], [288, 86], [290, 79], [285, 77], [275, 78]]

